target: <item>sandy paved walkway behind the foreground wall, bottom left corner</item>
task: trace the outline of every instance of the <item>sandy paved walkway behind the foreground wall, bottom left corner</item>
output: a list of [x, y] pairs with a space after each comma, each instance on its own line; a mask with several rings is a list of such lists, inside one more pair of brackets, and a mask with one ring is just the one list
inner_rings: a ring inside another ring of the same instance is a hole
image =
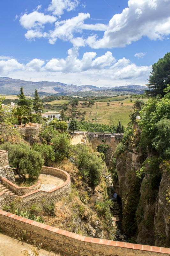
[[[0, 233], [0, 256], [24, 256], [23, 250], [31, 252], [32, 245], [20, 242], [10, 236]], [[61, 256], [52, 252], [40, 249], [39, 256]], [[32, 254], [31, 254], [32, 255]]]

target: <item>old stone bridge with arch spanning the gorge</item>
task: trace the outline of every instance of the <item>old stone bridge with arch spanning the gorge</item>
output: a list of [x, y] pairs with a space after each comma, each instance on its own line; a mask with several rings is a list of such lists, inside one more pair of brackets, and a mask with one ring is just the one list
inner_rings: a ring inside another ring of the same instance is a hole
[[87, 132], [87, 137], [92, 143], [92, 148], [95, 149], [100, 144], [107, 144], [114, 151], [117, 144], [123, 137], [122, 133], [100, 133], [100, 132]]

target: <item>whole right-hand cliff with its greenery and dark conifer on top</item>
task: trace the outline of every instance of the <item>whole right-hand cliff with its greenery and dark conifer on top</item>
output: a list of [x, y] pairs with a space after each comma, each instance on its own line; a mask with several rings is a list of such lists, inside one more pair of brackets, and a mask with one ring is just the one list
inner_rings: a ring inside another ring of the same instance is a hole
[[152, 97], [135, 101], [129, 128], [115, 150], [116, 169], [115, 158], [112, 161], [115, 186], [117, 170], [122, 196], [124, 231], [137, 243], [164, 247], [170, 246], [169, 60], [167, 53], [152, 66], [147, 92]]

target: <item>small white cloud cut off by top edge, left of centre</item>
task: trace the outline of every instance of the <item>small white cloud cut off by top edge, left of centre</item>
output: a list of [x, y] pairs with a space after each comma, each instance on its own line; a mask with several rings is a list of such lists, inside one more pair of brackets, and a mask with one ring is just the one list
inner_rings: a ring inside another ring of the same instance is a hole
[[48, 5], [48, 11], [53, 12], [54, 15], [60, 16], [64, 13], [75, 10], [78, 6], [78, 0], [52, 0], [51, 4]]

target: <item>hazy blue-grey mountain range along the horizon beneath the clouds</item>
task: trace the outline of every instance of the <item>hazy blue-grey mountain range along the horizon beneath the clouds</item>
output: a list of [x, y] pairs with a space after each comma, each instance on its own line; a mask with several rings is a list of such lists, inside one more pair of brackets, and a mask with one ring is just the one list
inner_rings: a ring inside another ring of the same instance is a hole
[[35, 89], [38, 90], [41, 96], [45, 95], [64, 95], [64, 94], [89, 94], [91, 92], [96, 92], [96, 94], [101, 95], [103, 92], [106, 94], [110, 93], [111, 91], [115, 92], [132, 92], [132, 93], [143, 93], [146, 86], [141, 85], [127, 85], [127, 86], [116, 86], [114, 88], [110, 87], [97, 87], [94, 85], [74, 85], [74, 84], [63, 84], [59, 82], [48, 82], [48, 81], [41, 81], [41, 82], [32, 82], [32, 81], [25, 81], [20, 79], [12, 79], [10, 77], [0, 77], [0, 94], [7, 94], [7, 95], [18, 95], [19, 90], [23, 86], [24, 93], [27, 95], [32, 95], [35, 92]]

